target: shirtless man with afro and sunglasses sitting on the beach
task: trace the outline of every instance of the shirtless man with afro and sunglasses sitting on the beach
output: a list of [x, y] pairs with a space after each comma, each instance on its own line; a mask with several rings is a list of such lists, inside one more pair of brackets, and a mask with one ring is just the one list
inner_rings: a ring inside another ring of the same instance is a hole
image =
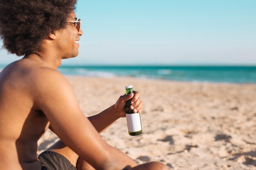
[[[81, 21], [75, 0], [0, 0], [0, 35], [10, 53], [24, 55], [0, 73], [0, 170], [167, 170], [159, 162], [137, 165], [99, 133], [120, 117], [135, 91], [98, 115], [85, 117], [69, 82], [56, 71], [78, 55]], [[47, 129], [61, 139], [37, 155]]]

